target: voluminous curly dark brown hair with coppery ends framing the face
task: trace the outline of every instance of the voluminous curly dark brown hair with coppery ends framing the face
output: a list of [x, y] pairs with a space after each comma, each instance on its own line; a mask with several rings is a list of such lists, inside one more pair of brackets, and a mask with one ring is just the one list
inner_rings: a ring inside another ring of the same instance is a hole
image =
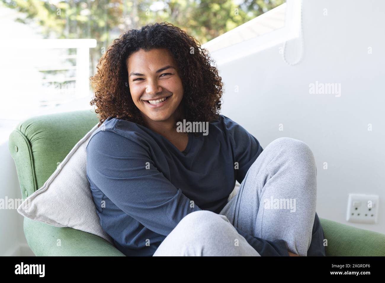
[[194, 37], [163, 22], [122, 33], [100, 58], [97, 73], [90, 77], [95, 90], [90, 105], [97, 107], [98, 127], [111, 116], [143, 125], [131, 97], [126, 60], [136, 51], [154, 48], [169, 50], [178, 65], [184, 89], [180, 106], [186, 121], [212, 122], [219, 118], [223, 83], [217, 68], [211, 65], [214, 60]]

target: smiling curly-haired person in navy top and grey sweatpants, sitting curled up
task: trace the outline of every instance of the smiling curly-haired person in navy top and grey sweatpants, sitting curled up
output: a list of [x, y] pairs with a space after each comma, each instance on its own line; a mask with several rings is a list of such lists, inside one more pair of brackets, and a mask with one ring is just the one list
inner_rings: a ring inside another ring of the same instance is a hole
[[[194, 38], [169, 23], [129, 30], [97, 69], [101, 127], [87, 145], [87, 178], [120, 251], [325, 255], [310, 148], [280, 138], [263, 150], [219, 115], [223, 83]], [[186, 122], [208, 128], [177, 127]]]

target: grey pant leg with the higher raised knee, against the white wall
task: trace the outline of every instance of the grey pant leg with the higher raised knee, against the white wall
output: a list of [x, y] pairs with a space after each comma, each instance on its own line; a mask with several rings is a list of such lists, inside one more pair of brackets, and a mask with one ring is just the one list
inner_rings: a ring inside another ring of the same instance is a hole
[[306, 256], [316, 219], [316, 188], [309, 146], [278, 138], [250, 166], [238, 193], [219, 214], [250, 235], [283, 239], [290, 252]]

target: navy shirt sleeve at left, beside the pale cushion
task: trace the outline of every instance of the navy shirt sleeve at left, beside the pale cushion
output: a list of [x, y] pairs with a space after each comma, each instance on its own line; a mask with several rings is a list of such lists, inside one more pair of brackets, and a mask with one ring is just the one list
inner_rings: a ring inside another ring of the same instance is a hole
[[[167, 236], [187, 214], [201, 210], [164, 177], [145, 145], [113, 130], [86, 147], [87, 175], [105, 196], [146, 228]], [[192, 206], [192, 207], [191, 207]]]

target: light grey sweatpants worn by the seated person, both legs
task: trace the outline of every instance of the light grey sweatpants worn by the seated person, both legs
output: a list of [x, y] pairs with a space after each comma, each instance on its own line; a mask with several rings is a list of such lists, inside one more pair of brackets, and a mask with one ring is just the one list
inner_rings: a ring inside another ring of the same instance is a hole
[[316, 175], [306, 143], [278, 138], [250, 166], [219, 214], [189, 213], [154, 256], [259, 256], [234, 227], [264, 240], [283, 239], [288, 251], [300, 256], [322, 255], [317, 251], [323, 248], [323, 231], [316, 215]]

